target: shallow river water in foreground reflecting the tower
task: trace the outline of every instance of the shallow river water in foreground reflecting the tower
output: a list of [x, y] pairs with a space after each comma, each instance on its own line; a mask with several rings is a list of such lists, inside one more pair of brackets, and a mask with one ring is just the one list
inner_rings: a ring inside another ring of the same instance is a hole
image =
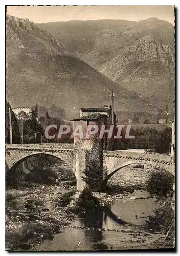
[[108, 207], [97, 208], [94, 213], [74, 220], [71, 223], [74, 228], [62, 229], [52, 241], [44, 241], [37, 245], [35, 250], [150, 248], [148, 244], [157, 238], [157, 234], [148, 232], [145, 222], [148, 216], [153, 214], [154, 208], [155, 201], [152, 198], [119, 199]]

